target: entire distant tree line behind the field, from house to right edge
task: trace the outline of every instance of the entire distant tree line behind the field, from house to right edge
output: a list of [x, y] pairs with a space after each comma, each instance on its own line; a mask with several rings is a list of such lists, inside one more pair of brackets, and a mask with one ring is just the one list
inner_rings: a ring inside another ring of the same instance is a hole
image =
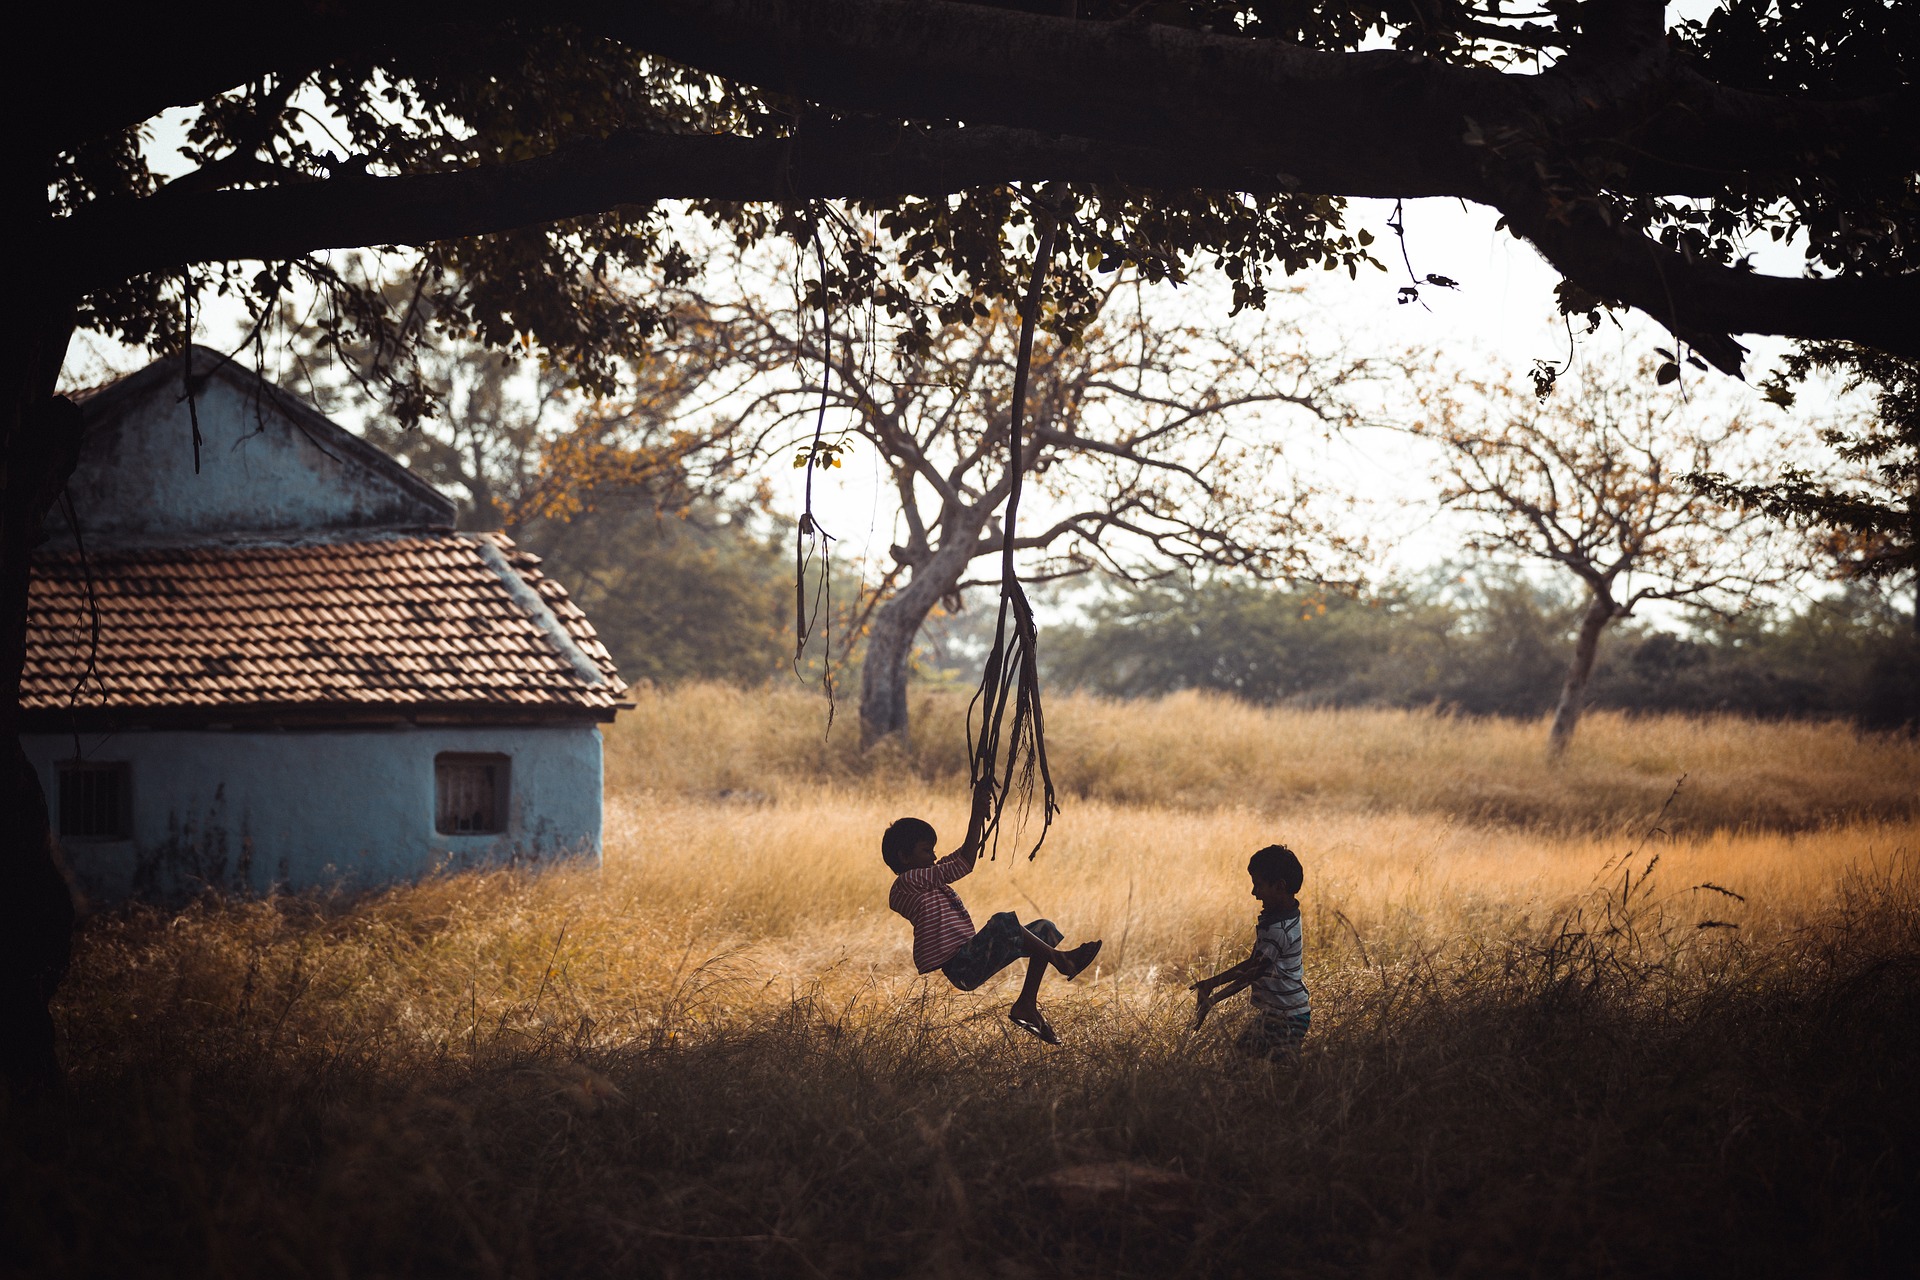
[[[756, 528], [751, 510], [662, 510], [632, 495], [516, 535], [574, 591], [628, 679], [760, 685], [795, 677], [793, 562]], [[851, 574], [835, 578], [833, 651], [852, 670], [858, 593]], [[1920, 637], [1903, 597], [1845, 583], [1795, 608], [1690, 614], [1680, 629], [1630, 622], [1601, 647], [1588, 706], [1920, 723]], [[916, 645], [916, 679], [958, 687], [977, 676], [987, 604], [937, 610]], [[1044, 628], [1041, 656], [1048, 683], [1117, 699], [1208, 689], [1260, 704], [1540, 718], [1555, 710], [1582, 612], [1572, 591], [1492, 570], [1365, 597], [1158, 583]], [[816, 651], [801, 670], [818, 679]]]

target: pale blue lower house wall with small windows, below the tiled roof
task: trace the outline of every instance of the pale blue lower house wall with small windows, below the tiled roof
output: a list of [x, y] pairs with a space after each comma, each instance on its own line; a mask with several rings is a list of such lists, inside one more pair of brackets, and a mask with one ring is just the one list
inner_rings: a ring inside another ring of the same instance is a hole
[[[75, 739], [25, 735], [60, 827], [58, 762]], [[204, 887], [369, 889], [434, 871], [601, 856], [595, 725], [348, 731], [83, 733], [90, 762], [127, 762], [132, 839], [61, 841], [100, 906]], [[434, 831], [434, 756], [509, 756], [501, 835]]]

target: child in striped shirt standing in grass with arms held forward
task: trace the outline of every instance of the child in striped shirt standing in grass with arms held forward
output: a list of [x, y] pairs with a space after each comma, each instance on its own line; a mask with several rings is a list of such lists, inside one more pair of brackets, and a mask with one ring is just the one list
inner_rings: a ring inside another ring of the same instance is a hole
[[1246, 1054], [1279, 1057], [1292, 1054], [1308, 1034], [1311, 1011], [1308, 984], [1300, 973], [1300, 885], [1306, 871], [1300, 858], [1284, 844], [1267, 844], [1246, 862], [1260, 898], [1260, 925], [1254, 931], [1254, 954], [1231, 969], [1192, 984], [1200, 1009], [1194, 1027], [1206, 1021], [1213, 1006], [1248, 986], [1254, 988], [1254, 1021], [1235, 1042]]

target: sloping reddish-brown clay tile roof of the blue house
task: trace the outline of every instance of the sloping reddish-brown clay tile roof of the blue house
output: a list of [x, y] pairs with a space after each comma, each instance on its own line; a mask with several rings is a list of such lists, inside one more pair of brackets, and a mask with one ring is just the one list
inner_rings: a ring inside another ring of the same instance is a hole
[[[35, 557], [27, 712], [486, 706], [609, 718], [622, 691], [586, 614], [534, 568], [538, 557], [499, 533], [165, 547], [88, 560]], [[100, 604], [96, 677], [84, 677], [88, 572]]]

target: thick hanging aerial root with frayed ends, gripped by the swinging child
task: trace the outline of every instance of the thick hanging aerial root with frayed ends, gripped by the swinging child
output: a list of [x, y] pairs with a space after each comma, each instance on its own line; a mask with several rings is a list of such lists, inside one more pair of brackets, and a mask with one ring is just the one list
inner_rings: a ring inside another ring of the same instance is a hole
[[[1046, 829], [1060, 812], [1054, 794], [1054, 775], [1046, 768], [1046, 725], [1041, 718], [1041, 668], [1035, 654], [1037, 631], [1033, 626], [1033, 604], [1014, 574], [1014, 530], [1020, 518], [1020, 489], [1025, 462], [1020, 455], [1020, 430], [1027, 416], [1027, 374], [1033, 367], [1033, 324], [1041, 315], [1041, 288], [1046, 284], [1046, 271], [1054, 255], [1054, 219], [1046, 217], [1041, 226], [1041, 244], [1033, 253], [1033, 280], [1027, 284], [1027, 303], [1020, 311], [1020, 351], [1014, 365], [1014, 405], [1006, 428], [1006, 464], [1010, 484], [1006, 491], [1006, 530], [1000, 539], [1000, 616], [993, 631], [993, 651], [979, 677], [979, 691], [968, 704], [968, 760], [970, 779], [977, 787], [983, 781], [995, 783], [993, 812], [987, 819], [987, 833], [998, 854], [1000, 814], [1018, 779], [1020, 794], [1027, 806], [1033, 804], [1033, 787], [1041, 787], [1041, 839], [1027, 852], [1031, 860], [1046, 842]], [[1012, 618], [1012, 631], [1008, 631]], [[979, 733], [973, 731], [973, 712], [981, 712]], [[1008, 708], [1014, 723], [1006, 725]], [[1000, 747], [1006, 747], [1006, 760], [1000, 760]]]

